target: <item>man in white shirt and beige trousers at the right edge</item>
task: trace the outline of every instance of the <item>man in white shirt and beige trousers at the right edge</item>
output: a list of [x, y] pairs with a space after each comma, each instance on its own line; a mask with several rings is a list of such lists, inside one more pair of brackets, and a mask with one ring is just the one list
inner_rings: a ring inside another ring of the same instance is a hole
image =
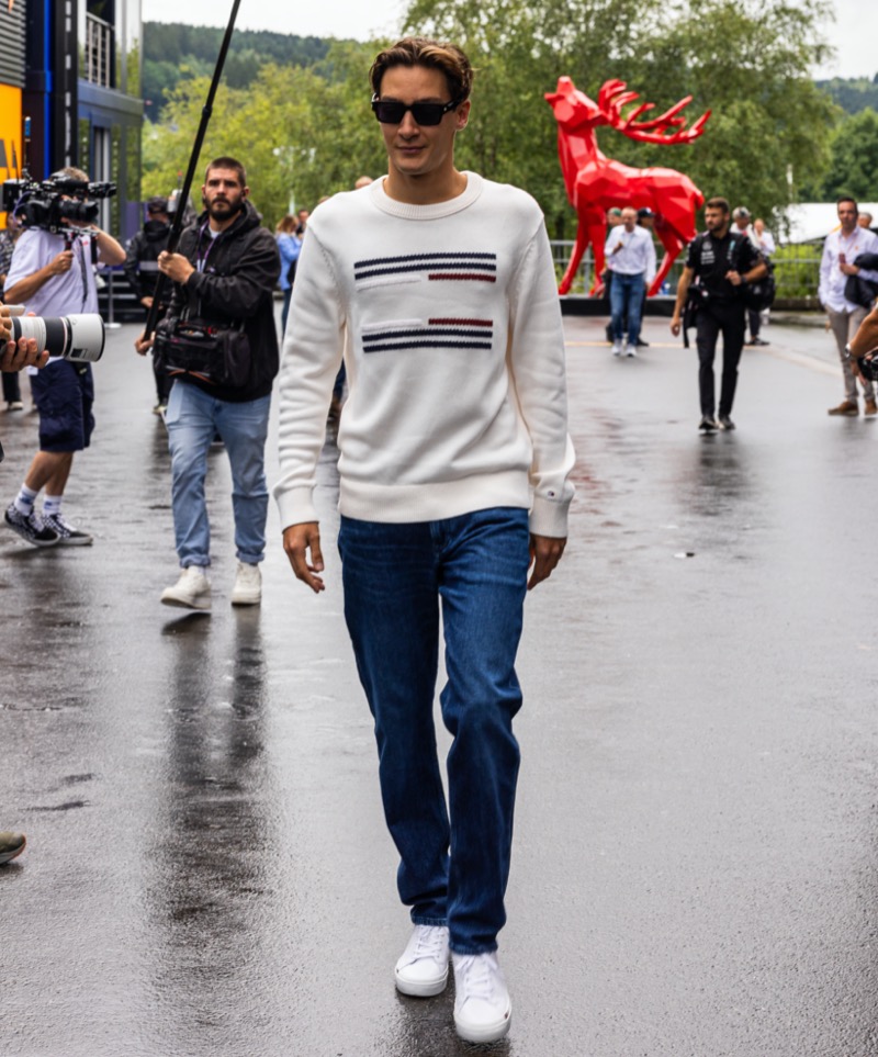
[[[878, 235], [857, 224], [859, 210], [853, 199], [838, 199], [837, 210], [841, 226], [830, 232], [823, 244], [818, 297], [829, 316], [829, 325], [838, 347], [838, 359], [844, 378], [844, 400], [837, 406], [830, 407], [829, 414], [853, 418], [859, 414], [857, 376], [851, 367], [846, 347], [866, 318], [868, 310], [845, 297], [845, 285], [851, 276], [862, 276], [870, 282], [878, 282], [878, 272], [862, 269], [854, 263], [860, 254], [878, 252]], [[865, 414], [878, 414], [875, 386], [864, 379], [859, 379], [859, 384], [863, 387]]]

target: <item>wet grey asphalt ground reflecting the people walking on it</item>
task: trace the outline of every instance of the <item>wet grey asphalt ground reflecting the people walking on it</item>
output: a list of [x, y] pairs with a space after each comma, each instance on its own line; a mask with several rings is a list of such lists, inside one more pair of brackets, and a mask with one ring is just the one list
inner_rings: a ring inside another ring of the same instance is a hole
[[[528, 599], [502, 963], [509, 1057], [878, 1055], [878, 423], [836, 420], [831, 339], [773, 326], [733, 434], [696, 430], [695, 352], [637, 361], [570, 319], [578, 497]], [[451, 992], [397, 996], [408, 933], [368, 710], [328, 589], [272, 506], [261, 609], [233, 610], [212, 454], [214, 610], [176, 578], [165, 430], [133, 327], [97, 367], [66, 513], [0, 538], [4, 1057], [447, 1057]], [[8, 498], [36, 417], [0, 414]], [[275, 475], [273, 440], [270, 475]], [[693, 556], [679, 556], [690, 553]]]

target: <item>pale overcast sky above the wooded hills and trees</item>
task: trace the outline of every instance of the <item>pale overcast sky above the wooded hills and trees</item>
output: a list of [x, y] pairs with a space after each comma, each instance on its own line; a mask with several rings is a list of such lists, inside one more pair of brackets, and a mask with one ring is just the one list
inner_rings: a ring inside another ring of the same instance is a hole
[[[273, 30], [301, 36], [341, 36], [369, 40], [397, 31], [408, 4], [405, 0], [326, 0], [323, 3], [278, 3], [241, 0], [237, 22], [241, 30]], [[826, 36], [836, 49], [817, 77], [874, 77], [878, 72], [878, 3], [875, 0], [835, 0], [836, 22]], [[185, 22], [222, 25], [228, 22], [232, 0], [143, 0], [145, 22]]]

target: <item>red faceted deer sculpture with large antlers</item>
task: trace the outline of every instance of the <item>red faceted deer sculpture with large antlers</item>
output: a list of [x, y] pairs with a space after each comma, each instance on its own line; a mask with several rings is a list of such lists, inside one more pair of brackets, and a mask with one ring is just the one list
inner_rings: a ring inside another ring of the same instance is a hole
[[569, 77], [562, 77], [558, 91], [545, 94], [558, 121], [558, 151], [567, 198], [579, 217], [576, 245], [558, 288], [561, 294], [570, 292], [589, 243], [597, 277], [592, 293], [603, 292], [606, 215], [614, 206], [631, 205], [635, 210], [649, 206], [656, 215], [655, 234], [665, 248], [665, 256], [650, 286], [650, 296], [661, 288], [675, 258], [696, 235], [695, 211], [705, 196], [693, 181], [676, 169], [634, 169], [607, 158], [597, 148], [595, 128], [610, 125], [630, 139], [643, 143], [691, 143], [705, 131], [710, 111], [686, 128], [686, 119], [679, 116], [679, 112], [691, 102], [691, 95], [687, 95], [660, 117], [639, 122], [638, 117], [653, 110], [654, 104], [640, 103], [623, 115], [622, 108], [640, 99], [637, 92], [626, 91], [626, 87], [624, 81], [605, 81], [594, 103]]

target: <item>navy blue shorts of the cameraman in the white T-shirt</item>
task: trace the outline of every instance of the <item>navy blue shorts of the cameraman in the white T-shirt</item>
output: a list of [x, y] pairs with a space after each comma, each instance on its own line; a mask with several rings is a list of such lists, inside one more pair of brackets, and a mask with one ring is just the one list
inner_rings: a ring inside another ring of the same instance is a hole
[[57, 360], [31, 375], [40, 412], [41, 451], [81, 451], [94, 429], [94, 381], [90, 363]]

